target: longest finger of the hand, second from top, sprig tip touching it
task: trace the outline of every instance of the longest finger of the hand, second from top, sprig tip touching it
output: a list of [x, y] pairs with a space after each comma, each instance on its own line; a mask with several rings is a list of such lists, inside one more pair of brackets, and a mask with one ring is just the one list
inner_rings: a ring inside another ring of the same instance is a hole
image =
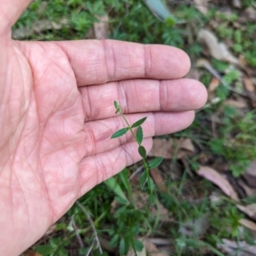
[[207, 101], [205, 86], [193, 79], [131, 79], [84, 86], [79, 91], [85, 121], [113, 117], [113, 101], [119, 102], [123, 113], [195, 110]]

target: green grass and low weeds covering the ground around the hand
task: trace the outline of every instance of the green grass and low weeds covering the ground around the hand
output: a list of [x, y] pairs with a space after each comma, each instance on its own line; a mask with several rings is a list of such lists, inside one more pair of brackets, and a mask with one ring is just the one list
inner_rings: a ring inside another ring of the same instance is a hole
[[[243, 1], [242, 4], [245, 9], [255, 2]], [[171, 7], [172, 14], [177, 20], [184, 20], [183, 23], [171, 26], [161, 22], [138, 0], [36, 0], [15, 24], [14, 34], [16, 38], [25, 40], [93, 38], [92, 27], [97, 21], [96, 17], [108, 15], [109, 38], [174, 45], [185, 49], [192, 63], [195, 63], [204, 57], [196, 31], [208, 27], [219, 39], [232, 42], [230, 48], [234, 55], [243, 54], [249, 67], [256, 66], [255, 24], [249, 20], [239, 23], [238, 10], [232, 9], [232, 15], [227, 16], [213, 6], [204, 16], [193, 5], [175, 2]], [[215, 28], [212, 28], [212, 20], [218, 24]], [[37, 22], [42, 26], [36, 31], [34, 24]], [[233, 26], [235, 22], [240, 24], [238, 29]], [[241, 75], [237, 67], [227, 71], [230, 68], [228, 63], [212, 58], [209, 61], [223, 75], [225, 84], [241, 90]], [[208, 87], [212, 74], [204, 69], [200, 72], [201, 81]], [[130, 247], [139, 252], [143, 248], [139, 237], [168, 239], [172, 255], [224, 255], [217, 247], [223, 238], [253, 243], [248, 230], [241, 230], [239, 219], [244, 215], [234, 203], [212, 183], [195, 175], [201, 165], [226, 165], [225, 171], [230, 172], [232, 177], [240, 177], [250, 160], [256, 157], [256, 112], [252, 111], [252, 102], [246, 98], [249, 107], [245, 109], [227, 105], [228, 99], [238, 101], [243, 96], [225, 84], [220, 84], [214, 92], [218, 103], [201, 109], [193, 125], [185, 131], [165, 137], [190, 138], [196, 153], [185, 156], [183, 160], [173, 157], [172, 160], [163, 161], [160, 171], [167, 189], [163, 192], [158, 186], [154, 188], [154, 206], [148, 200], [138, 200], [137, 195], [142, 193], [137, 178], [139, 175], [129, 181], [127, 179], [143, 165], [142, 162], [125, 168], [116, 177], [99, 184], [79, 199], [93, 220], [102, 244], [102, 255], [113, 255], [114, 252], [124, 255]], [[212, 122], [212, 117], [218, 122]], [[148, 198], [145, 191], [141, 195]], [[212, 201], [213, 195], [218, 195], [218, 201]], [[254, 201], [248, 198], [243, 200]], [[168, 220], [164, 220], [161, 207], [167, 210]], [[206, 216], [207, 228], [204, 232], [189, 225], [191, 220]], [[72, 219], [78, 227], [83, 247], [79, 245]], [[184, 229], [191, 231], [189, 236], [185, 235]], [[74, 205], [61, 218], [53, 233], [44, 236], [32, 248], [44, 256], [85, 255], [89, 250], [91, 255], [100, 254], [90, 221], [78, 205]]]

